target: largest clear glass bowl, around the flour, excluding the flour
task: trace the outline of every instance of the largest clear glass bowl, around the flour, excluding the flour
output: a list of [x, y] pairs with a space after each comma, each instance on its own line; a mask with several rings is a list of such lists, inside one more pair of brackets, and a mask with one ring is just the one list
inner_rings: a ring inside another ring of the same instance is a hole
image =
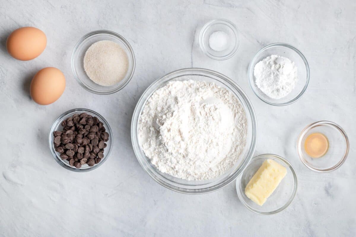
[[[246, 145], [244, 150], [241, 152], [239, 162], [236, 163], [232, 168], [227, 170], [223, 175], [216, 177], [215, 179], [203, 180], [203, 181], [188, 181], [180, 178], [170, 176], [169, 174], [162, 173], [159, 171], [156, 166], [154, 166], [150, 159], [142, 151], [140, 144], [138, 142], [138, 119], [142, 113], [143, 107], [148, 98], [151, 97], [152, 93], [155, 92], [158, 88], [163, 87], [169, 81], [177, 80], [187, 80], [187, 76], [194, 76], [194, 80], [199, 81], [210, 81], [215, 84], [227, 88], [232, 92], [237, 98], [240, 99], [242, 106], [245, 109], [246, 118], [247, 118], [247, 137]], [[184, 78], [182, 78], [184, 77]], [[250, 161], [253, 152], [256, 146], [257, 138], [257, 123], [255, 112], [253, 111], [250, 100], [247, 98], [244, 91], [241, 90], [239, 86], [235, 84], [228, 77], [207, 69], [200, 68], [188, 68], [181, 69], [174, 72], [171, 72], [149, 86], [145, 92], [143, 92], [141, 98], [138, 100], [135, 111], [132, 116], [131, 123], [131, 140], [133, 151], [137, 157], [138, 162], [142, 168], [153, 178], [157, 183], [162, 186], [187, 194], [201, 194], [213, 192], [217, 189], [224, 187], [233, 181], [245, 168], [247, 163]]]

